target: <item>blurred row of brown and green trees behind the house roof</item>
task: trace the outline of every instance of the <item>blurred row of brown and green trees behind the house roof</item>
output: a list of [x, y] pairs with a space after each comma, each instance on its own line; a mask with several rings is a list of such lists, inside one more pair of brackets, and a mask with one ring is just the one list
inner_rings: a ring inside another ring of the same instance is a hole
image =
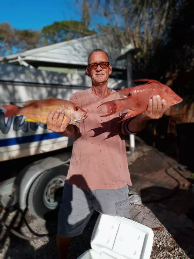
[[95, 30], [88, 29], [90, 16], [86, 6], [82, 16], [82, 22], [54, 22], [41, 31], [18, 30], [9, 23], [0, 23], [0, 56], [95, 34]]

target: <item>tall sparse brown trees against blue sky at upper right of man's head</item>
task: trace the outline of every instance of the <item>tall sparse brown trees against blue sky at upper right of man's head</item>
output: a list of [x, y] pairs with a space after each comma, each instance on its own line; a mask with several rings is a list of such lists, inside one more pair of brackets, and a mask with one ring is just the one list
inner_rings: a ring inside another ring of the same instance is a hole
[[92, 18], [100, 17], [99, 31], [114, 35], [117, 46], [131, 43], [142, 52], [136, 69], [145, 70], [158, 44], [167, 42], [167, 30], [186, 0], [79, 0], [87, 1]]

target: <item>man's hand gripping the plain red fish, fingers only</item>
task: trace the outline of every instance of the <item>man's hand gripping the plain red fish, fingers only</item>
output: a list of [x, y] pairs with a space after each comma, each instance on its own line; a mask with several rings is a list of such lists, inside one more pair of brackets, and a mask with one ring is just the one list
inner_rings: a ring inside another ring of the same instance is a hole
[[159, 119], [163, 116], [166, 110], [166, 101], [161, 100], [161, 97], [159, 95], [154, 95], [152, 96], [152, 99], [149, 100], [147, 110], [142, 115], [148, 120]]

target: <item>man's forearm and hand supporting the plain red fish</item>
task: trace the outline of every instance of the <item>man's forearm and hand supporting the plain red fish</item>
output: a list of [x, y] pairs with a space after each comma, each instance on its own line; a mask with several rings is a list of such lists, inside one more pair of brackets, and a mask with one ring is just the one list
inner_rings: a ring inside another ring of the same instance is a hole
[[161, 100], [160, 96], [153, 96], [148, 102], [147, 110], [139, 114], [126, 124], [126, 128], [131, 134], [135, 134], [146, 127], [147, 121], [151, 119], [159, 119], [166, 112], [167, 104], [165, 100]]

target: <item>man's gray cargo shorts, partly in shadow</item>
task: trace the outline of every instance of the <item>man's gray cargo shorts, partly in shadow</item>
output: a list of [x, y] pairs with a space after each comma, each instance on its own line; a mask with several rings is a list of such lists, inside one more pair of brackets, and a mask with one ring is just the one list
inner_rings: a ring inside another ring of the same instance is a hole
[[129, 216], [128, 186], [86, 190], [65, 183], [59, 209], [58, 235], [81, 235], [94, 210], [112, 216]]

